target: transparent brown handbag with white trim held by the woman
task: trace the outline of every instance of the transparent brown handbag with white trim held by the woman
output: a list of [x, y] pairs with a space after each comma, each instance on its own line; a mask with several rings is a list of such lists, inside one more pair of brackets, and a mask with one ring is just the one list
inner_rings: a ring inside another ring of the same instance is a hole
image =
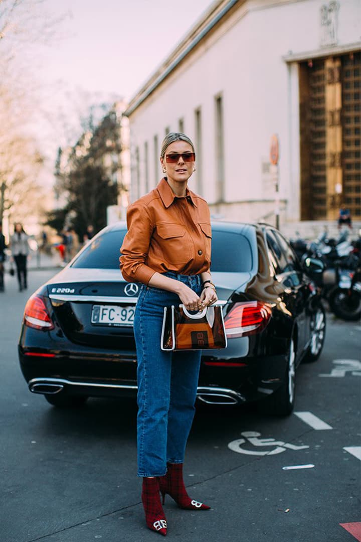
[[221, 305], [211, 305], [194, 313], [188, 312], [184, 305], [164, 307], [162, 350], [207, 350], [226, 346]]

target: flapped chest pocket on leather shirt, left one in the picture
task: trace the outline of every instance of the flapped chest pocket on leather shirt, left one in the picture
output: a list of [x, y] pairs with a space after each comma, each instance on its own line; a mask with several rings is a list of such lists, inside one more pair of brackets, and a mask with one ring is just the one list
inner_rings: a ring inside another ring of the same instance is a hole
[[186, 263], [191, 257], [188, 233], [180, 224], [159, 224], [156, 227], [163, 257], [168, 263]]

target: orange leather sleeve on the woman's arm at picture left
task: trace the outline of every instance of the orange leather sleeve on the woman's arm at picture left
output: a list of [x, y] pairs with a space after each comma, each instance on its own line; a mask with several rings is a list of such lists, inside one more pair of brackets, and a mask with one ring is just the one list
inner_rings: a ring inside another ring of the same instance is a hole
[[139, 202], [129, 205], [127, 226], [128, 232], [124, 237], [119, 258], [122, 275], [128, 282], [148, 284], [155, 270], [147, 265], [153, 224], [145, 205]]

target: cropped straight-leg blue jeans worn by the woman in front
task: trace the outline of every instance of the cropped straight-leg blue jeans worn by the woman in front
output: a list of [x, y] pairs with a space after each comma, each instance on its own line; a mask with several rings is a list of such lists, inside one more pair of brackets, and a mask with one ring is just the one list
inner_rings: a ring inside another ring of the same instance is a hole
[[[200, 275], [164, 275], [185, 282], [200, 295]], [[179, 296], [173, 292], [141, 286], [134, 316], [138, 476], [163, 476], [167, 462], [184, 461], [195, 411], [201, 351], [161, 350], [163, 308], [179, 303]]]

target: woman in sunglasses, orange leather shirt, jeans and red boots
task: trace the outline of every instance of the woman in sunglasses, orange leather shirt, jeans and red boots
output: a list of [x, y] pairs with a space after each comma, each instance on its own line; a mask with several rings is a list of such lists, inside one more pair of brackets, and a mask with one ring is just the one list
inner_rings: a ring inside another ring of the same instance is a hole
[[211, 280], [211, 222], [206, 201], [187, 188], [195, 171], [192, 141], [182, 133], [163, 140], [165, 177], [127, 211], [121, 247], [124, 279], [141, 282], [134, 317], [137, 351], [137, 455], [147, 526], [166, 535], [160, 501], [206, 510], [186, 491], [182, 464], [194, 417], [201, 351], [160, 348], [163, 307], [180, 302], [199, 311], [217, 300]]

